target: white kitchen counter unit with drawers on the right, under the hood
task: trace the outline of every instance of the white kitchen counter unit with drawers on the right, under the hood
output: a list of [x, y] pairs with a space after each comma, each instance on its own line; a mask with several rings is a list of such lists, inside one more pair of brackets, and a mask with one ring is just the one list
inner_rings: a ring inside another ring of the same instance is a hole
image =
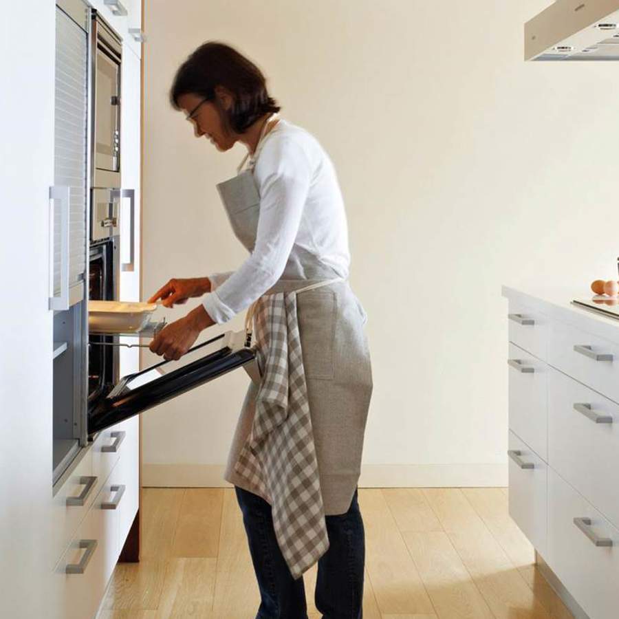
[[619, 320], [572, 304], [584, 287], [502, 292], [510, 516], [577, 619], [616, 618]]

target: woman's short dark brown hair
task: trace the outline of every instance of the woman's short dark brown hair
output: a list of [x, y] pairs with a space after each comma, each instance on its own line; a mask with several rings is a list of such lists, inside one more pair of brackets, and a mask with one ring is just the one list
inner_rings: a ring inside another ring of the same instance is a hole
[[[234, 96], [229, 110], [219, 107], [215, 86], [226, 87]], [[172, 107], [181, 109], [178, 98], [189, 93], [214, 100], [226, 128], [237, 133], [265, 113], [281, 109], [269, 96], [261, 70], [230, 45], [217, 41], [203, 43], [178, 67], [170, 89]]]

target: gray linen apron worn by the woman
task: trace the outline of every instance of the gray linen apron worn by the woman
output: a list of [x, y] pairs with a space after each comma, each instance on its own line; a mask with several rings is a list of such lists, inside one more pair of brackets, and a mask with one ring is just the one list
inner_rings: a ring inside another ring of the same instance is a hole
[[[263, 135], [254, 154], [257, 157]], [[268, 136], [267, 136], [268, 137]], [[241, 163], [242, 167], [243, 163]], [[217, 185], [219, 195], [235, 236], [252, 251], [256, 241], [260, 197], [252, 169]], [[347, 280], [327, 265], [307, 263], [305, 279], [285, 268], [279, 281], [248, 311], [251, 329], [252, 310], [265, 297], [296, 292], [294, 327], [298, 327], [307, 404], [311, 417], [324, 515], [342, 514], [350, 506], [360, 475], [363, 439], [372, 393], [369, 347], [363, 326], [367, 316]], [[293, 306], [294, 307], [294, 306]], [[265, 305], [262, 306], [265, 310]], [[262, 316], [264, 321], [264, 316]], [[260, 321], [257, 321], [257, 338]], [[259, 385], [250, 382], [232, 439], [224, 479], [261, 495], [271, 503], [262, 484], [252, 484], [239, 475], [239, 462], [248, 446], [254, 427]], [[254, 431], [255, 431], [254, 427]], [[274, 430], [274, 432], [276, 429]], [[321, 514], [321, 516], [323, 515]], [[284, 551], [284, 549], [282, 549]], [[324, 545], [318, 551], [325, 551]], [[290, 561], [296, 577], [307, 569], [308, 561]], [[315, 557], [317, 558], [317, 556]], [[296, 569], [296, 574], [295, 574]]]

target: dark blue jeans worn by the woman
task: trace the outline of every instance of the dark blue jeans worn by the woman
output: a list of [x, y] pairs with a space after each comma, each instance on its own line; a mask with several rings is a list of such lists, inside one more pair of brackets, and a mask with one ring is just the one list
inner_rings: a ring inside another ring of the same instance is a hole
[[[261, 603], [256, 619], [307, 619], [303, 576], [292, 578], [279, 550], [271, 506], [235, 486]], [[365, 530], [355, 489], [348, 511], [325, 516], [329, 550], [318, 559], [314, 603], [323, 619], [362, 619]]]

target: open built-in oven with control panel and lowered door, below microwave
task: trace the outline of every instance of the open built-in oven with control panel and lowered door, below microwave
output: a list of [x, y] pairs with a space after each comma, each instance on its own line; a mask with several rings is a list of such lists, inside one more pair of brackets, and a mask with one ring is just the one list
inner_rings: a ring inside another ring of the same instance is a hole
[[[93, 190], [88, 270], [89, 301], [119, 301], [120, 230], [118, 191]], [[193, 347], [177, 361], [161, 361], [130, 376], [120, 376], [122, 346], [146, 347], [165, 326], [152, 320], [136, 332], [88, 333], [88, 439], [105, 428], [142, 413], [225, 373], [243, 367], [259, 382], [256, 351], [246, 333], [225, 332]]]

